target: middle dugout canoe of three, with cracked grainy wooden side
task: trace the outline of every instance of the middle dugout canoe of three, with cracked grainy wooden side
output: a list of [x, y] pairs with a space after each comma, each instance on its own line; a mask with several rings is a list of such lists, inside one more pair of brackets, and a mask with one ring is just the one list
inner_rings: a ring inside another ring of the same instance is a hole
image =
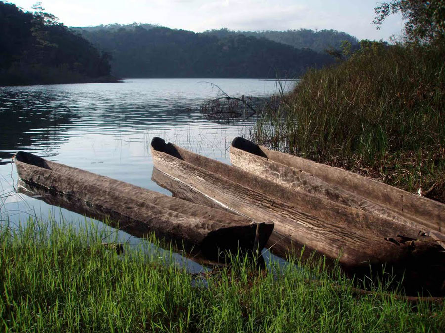
[[153, 138], [154, 179], [177, 197], [212, 205], [275, 227], [266, 247], [281, 257], [303, 257], [312, 250], [338, 262], [349, 276], [362, 276], [382, 265], [405, 277], [407, 292], [419, 286], [444, 293], [444, 249], [419, 225], [393, 221], [311, 193], [294, 191], [238, 167], [189, 152]]

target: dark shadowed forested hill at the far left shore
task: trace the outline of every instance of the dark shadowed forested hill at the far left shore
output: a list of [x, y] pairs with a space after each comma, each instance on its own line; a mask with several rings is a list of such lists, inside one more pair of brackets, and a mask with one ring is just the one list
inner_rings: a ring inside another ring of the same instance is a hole
[[0, 85], [115, 81], [109, 56], [37, 7], [0, 1]]

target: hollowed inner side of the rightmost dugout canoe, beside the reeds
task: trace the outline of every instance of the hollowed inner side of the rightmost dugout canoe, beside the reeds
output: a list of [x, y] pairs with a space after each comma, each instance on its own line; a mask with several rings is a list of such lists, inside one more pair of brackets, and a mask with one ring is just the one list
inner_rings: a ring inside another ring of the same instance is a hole
[[[243, 152], [247, 154], [243, 155]], [[243, 169], [251, 168], [250, 161], [253, 158], [249, 157], [249, 154], [292, 168], [294, 172], [303, 171], [311, 174], [328, 184], [348, 191], [358, 198], [364, 198], [379, 205], [399, 215], [402, 219], [417, 223], [425, 230], [443, 231], [445, 205], [437, 201], [420, 197], [338, 167], [331, 167], [270, 150], [241, 137], [232, 141], [231, 156], [236, 156], [235, 159], [232, 159], [232, 164]]]

